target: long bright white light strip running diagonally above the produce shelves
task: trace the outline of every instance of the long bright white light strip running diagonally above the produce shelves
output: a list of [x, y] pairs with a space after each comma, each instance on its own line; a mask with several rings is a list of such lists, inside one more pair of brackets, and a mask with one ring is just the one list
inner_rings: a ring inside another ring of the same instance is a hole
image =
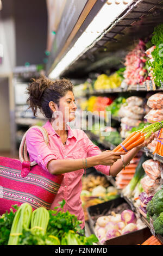
[[[133, 0], [128, 0], [128, 4]], [[49, 74], [49, 78], [58, 78], [59, 75], [68, 68], [79, 56], [86, 52], [87, 47], [93, 46], [93, 42], [109, 27], [110, 23], [116, 19], [126, 9], [126, 4], [111, 5], [105, 3], [90, 25], [85, 29], [84, 33], [80, 35], [74, 46], [66, 53], [66, 55], [55, 66], [53, 71]], [[92, 33], [93, 32], [93, 33]]]

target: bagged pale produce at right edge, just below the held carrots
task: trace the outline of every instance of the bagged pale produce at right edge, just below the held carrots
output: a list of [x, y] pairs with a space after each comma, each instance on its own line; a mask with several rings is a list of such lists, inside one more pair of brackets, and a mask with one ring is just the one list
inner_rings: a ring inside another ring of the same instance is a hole
[[160, 162], [149, 159], [142, 164], [145, 173], [153, 180], [160, 178], [161, 166]]

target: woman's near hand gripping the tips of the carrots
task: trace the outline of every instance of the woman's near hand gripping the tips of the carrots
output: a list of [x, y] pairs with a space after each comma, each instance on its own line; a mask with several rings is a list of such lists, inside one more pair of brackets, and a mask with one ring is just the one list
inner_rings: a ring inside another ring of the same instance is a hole
[[121, 159], [121, 155], [125, 155], [126, 152], [112, 152], [110, 150], [106, 150], [98, 155], [99, 164], [104, 166], [112, 166], [114, 162], [118, 159]]

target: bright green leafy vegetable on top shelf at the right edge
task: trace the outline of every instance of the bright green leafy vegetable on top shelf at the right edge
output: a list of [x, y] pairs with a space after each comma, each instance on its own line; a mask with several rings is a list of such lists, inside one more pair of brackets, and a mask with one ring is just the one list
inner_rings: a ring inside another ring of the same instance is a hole
[[152, 52], [154, 61], [149, 60], [149, 65], [152, 66], [155, 83], [157, 86], [161, 86], [160, 80], [163, 82], [163, 57], [162, 57], [162, 44], [163, 44], [163, 23], [154, 28], [152, 43], [156, 46]]

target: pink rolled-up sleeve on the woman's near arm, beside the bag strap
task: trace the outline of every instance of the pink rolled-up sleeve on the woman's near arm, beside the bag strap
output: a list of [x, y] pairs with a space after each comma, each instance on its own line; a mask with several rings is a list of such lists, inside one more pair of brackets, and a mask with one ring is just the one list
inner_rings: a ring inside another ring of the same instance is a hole
[[29, 157], [43, 169], [48, 170], [48, 162], [57, 160], [57, 156], [48, 148], [39, 129], [32, 128], [27, 132], [26, 143]]

